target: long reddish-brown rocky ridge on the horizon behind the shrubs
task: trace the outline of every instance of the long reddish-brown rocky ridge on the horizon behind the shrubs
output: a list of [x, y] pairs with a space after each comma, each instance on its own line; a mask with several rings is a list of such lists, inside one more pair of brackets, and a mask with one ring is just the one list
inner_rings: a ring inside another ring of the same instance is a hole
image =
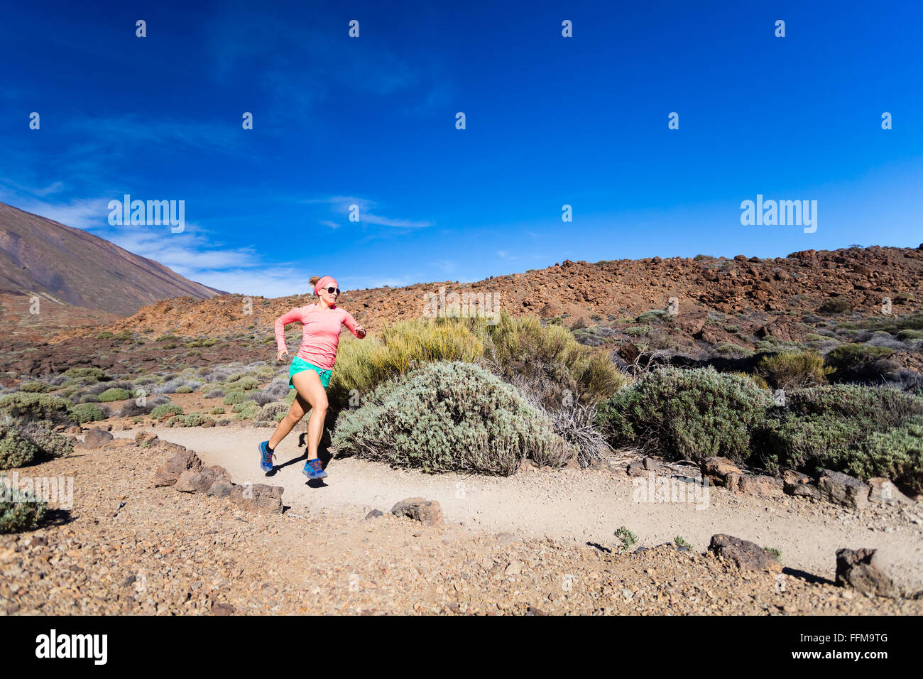
[[[376, 333], [394, 321], [423, 315], [425, 294], [438, 295], [440, 286], [445, 286], [446, 293], [496, 296], [497, 307], [513, 315], [559, 317], [567, 325], [591, 325], [666, 309], [670, 298], [676, 297], [677, 323], [689, 324], [685, 330], [696, 334], [702, 332], [709, 312], [745, 316], [755, 328], [773, 321], [780, 326], [790, 321], [780, 321], [780, 317], [794, 321], [817, 312], [825, 303], [863, 316], [881, 314], [882, 299], [888, 297], [893, 315], [915, 313], [923, 299], [923, 246], [804, 250], [776, 259], [699, 255], [691, 259], [564, 261], [471, 284], [443, 281], [348, 290], [340, 304]], [[268, 332], [282, 313], [311, 301], [313, 297], [306, 292], [275, 298], [168, 299], [119, 321], [61, 333], [53, 341], [103, 330], [185, 336], [220, 336], [253, 328]], [[784, 331], [777, 331], [777, 336], [778, 332]]]

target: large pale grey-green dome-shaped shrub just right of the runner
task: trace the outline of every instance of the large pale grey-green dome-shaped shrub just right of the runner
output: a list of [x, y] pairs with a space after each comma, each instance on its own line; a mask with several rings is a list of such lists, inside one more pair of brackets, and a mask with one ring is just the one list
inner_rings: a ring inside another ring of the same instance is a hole
[[440, 361], [386, 382], [343, 411], [332, 448], [426, 472], [509, 475], [521, 461], [560, 467], [574, 455], [514, 387], [471, 363]]

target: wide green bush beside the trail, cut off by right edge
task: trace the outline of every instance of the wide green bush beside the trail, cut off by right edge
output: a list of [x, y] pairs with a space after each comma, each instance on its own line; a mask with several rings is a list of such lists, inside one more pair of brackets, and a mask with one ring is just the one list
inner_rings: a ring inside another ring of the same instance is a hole
[[859, 479], [884, 476], [923, 491], [923, 397], [855, 384], [798, 389], [773, 408], [756, 447], [763, 467]]

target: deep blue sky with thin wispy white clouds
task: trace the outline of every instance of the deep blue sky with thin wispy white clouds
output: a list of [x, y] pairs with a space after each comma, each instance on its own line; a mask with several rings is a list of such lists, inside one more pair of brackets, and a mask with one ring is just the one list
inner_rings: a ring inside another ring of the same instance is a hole
[[[19, 3], [0, 200], [267, 297], [916, 247], [921, 25], [917, 3]], [[185, 230], [110, 225], [126, 193], [185, 200]], [[741, 225], [757, 194], [817, 200], [817, 231]]]

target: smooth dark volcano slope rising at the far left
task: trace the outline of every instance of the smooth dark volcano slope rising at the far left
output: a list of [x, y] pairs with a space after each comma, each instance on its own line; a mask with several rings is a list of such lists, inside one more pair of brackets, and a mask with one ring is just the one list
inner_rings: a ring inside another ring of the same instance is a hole
[[[0, 321], [11, 333], [106, 323], [168, 297], [222, 294], [161, 263], [0, 203]], [[30, 312], [32, 297], [39, 312]]]

